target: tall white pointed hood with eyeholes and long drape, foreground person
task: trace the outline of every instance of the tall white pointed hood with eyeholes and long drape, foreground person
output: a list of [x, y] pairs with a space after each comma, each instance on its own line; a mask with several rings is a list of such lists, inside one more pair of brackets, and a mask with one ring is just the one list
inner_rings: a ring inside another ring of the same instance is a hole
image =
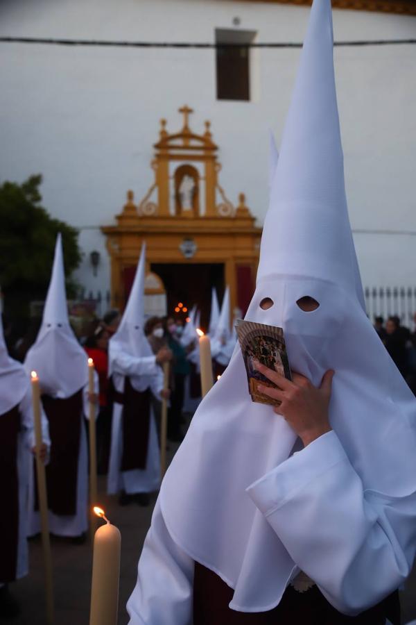
[[[416, 402], [362, 308], [332, 46], [330, 0], [314, 0], [245, 318], [283, 328], [291, 367], [314, 385], [334, 369], [331, 426], [363, 488], [394, 499], [416, 492]], [[305, 313], [297, 306], [304, 296], [320, 306]], [[263, 310], [266, 297], [273, 305]], [[296, 438], [271, 406], [252, 403], [236, 349], [200, 403], [162, 483], [168, 531], [234, 589], [234, 610], [277, 606], [296, 571], [248, 494], [250, 485], [288, 458]], [[296, 520], [307, 532], [307, 516], [302, 524]], [[395, 527], [393, 540], [403, 540], [403, 549], [412, 547], [406, 540], [413, 523], [409, 517], [407, 526]]]

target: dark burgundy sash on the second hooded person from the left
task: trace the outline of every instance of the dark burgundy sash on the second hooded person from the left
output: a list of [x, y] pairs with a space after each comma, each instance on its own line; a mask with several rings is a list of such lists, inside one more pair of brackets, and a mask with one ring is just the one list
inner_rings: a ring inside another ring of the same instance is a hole
[[[83, 389], [66, 399], [42, 395], [42, 404], [51, 437], [51, 459], [46, 465], [48, 508], [55, 515], [76, 515]], [[39, 510], [37, 488], [35, 510]]]

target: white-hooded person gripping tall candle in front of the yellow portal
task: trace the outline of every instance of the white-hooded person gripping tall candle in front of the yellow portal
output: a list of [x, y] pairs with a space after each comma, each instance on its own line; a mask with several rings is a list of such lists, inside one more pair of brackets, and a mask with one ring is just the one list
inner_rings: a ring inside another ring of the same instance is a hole
[[109, 343], [110, 390], [113, 399], [112, 438], [108, 494], [120, 494], [125, 505], [131, 498], [147, 505], [149, 493], [160, 483], [159, 445], [150, 393], [161, 399], [163, 372], [159, 365], [171, 360], [162, 347], [156, 355], [144, 334], [143, 245], [135, 280], [119, 328]]

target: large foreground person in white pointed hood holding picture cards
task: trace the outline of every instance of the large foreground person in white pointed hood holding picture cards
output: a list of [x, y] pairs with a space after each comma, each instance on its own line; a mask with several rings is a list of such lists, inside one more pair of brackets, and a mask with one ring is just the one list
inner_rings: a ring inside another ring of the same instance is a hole
[[293, 381], [259, 365], [281, 405], [252, 403], [234, 351], [166, 472], [131, 625], [399, 623], [416, 402], [363, 309], [332, 48], [314, 0], [245, 317], [283, 328]]

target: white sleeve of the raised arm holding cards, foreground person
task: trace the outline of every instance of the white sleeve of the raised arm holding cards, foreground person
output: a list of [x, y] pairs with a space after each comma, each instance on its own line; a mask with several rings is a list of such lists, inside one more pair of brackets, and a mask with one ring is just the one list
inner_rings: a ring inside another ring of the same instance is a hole
[[296, 564], [340, 612], [370, 608], [410, 573], [416, 494], [387, 497], [363, 490], [333, 431], [250, 485], [248, 494]]

